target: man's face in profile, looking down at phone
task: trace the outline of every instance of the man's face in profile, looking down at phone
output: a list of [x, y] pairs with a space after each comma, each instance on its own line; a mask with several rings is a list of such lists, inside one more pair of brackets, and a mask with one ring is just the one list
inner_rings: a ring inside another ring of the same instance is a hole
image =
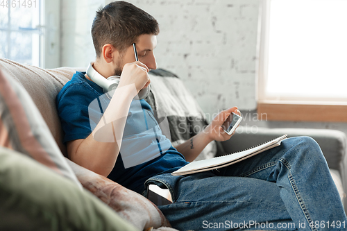
[[[142, 62], [149, 69], [157, 69], [157, 62], [153, 50], [157, 46], [157, 37], [155, 35], [139, 35], [136, 42], [137, 56], [139, 62]], [[115, 76], [121, 76], [121, 71], [126, 63], [135, 62], [135, 53], [133, 46], [129, 46], [126, 51], [117, 60], [115, 67]]]

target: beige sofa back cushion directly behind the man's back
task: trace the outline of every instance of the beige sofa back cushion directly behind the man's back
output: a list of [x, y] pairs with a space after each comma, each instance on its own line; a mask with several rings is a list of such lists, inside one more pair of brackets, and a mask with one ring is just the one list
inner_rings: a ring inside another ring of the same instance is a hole
[[8, 76], [17, 80], [26, 89], [41, 112], [60, 150], [66, 155], [66, 147], [62, 144], [62, 128], [56, 110], [56, 96], [62, 86], [71, 79], [76, 69], [69, 67], [42, 69], [31, 65], [21, 65], [4, 58], [0, 58], [0, 69], [6, 71]]

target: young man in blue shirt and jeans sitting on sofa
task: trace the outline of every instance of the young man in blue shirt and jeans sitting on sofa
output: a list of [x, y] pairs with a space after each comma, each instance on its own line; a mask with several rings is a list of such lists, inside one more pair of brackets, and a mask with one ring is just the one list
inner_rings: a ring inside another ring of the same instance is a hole
[[[239, 111], [234, 107], [219, 113], [203, 132], [172, 147], [149, 104], [133, 100], [149, 85], [149, 70], [157, 67], [153, 50], [158, 33], [156, 20], [130, 3], [115, 1], [96, 12], [92, 66], [104, 78], [118, 75], [120, 81], [108, 100], [91, 76], [76, 72], [58, 94], [69, 158], [139, 194], [149, 184], [169, 189], [174, 203], [160, 209], [178, 230], [333, 230], [328, 228], [332, 222], [341, 223], [337, 230], [346, 229], [328, 165], [309, 137], [286, 139], [281, 146], [219, 171], [171, 176], [212, 140], [230, 139], [221, 125], [230, 112]], [[105, 110], [90, 109], [96, 99], [105, 103]], [[91, 113], [99, 119], [91, 120]], [[148, 132], [155, 127], [155, 132]], [[155, 155], [126, 167], [124, 145], [136, 157]]]

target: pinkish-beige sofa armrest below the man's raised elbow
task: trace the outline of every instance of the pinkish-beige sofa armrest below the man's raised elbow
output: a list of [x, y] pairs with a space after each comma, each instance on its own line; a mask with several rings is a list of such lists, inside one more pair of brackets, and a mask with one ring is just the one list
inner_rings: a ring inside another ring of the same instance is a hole
[[85, 169], [67, 158], [66, 160], [85, 189], [92, 192], [94, 196], [101, 199], [119, 216], [135, 225], [139, 230], [151, 230], [153, 228], [175, 230], [169, 228], [171, 225], [160, 209], [144, 196]]

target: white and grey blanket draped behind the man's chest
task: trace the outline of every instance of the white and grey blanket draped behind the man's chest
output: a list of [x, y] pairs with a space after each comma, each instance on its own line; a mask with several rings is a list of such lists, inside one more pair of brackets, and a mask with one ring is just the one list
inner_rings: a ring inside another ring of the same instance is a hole
[[[145, 100], [151, 105], [158, 121], [167, 118], [169, 132], [164, 135], [171, 139], [173, 146], [182, 144], [208, 126], [203, 110], [178, 76], [164, 69], [151, 70], [149, 74], [151, 94]], [[212, 158], [217, 151], [223, 153], [221, 145], [210, 142], [196, 160]]]

